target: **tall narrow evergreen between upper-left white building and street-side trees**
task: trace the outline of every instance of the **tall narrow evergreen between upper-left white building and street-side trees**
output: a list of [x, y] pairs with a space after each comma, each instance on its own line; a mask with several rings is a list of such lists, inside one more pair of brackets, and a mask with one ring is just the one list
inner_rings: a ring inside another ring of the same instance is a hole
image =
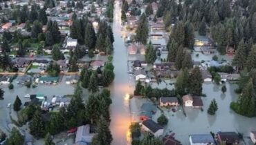
[[96, 40], [97, 40], [97, 37], [95, 35], [93, 25], [91, 23], [88, 23], [86, 25], [85, 33], [84, 33], [84, 43], [91, 50], [95, 48]]

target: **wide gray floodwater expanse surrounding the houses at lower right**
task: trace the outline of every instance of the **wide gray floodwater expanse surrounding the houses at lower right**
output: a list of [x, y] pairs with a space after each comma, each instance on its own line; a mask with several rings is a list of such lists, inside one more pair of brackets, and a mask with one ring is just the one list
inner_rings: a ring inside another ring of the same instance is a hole
[[[249, 118], [238, 115], [230, 109], [230, 102], [237, 101], [238, 95], [235, 94], [234, 89], [237, 88], [235, 84], [226, 84], [227, 92], [221, 93], [221, 85], [203, 84], [203, 93], [207, 97], [203, 99], [203, 111], [198, 108], [185, 107], [185, 115], [181, 110], [176, 113], [168, 111], [166, 108], [165, 115], [169, 118], [167, 126], [165, 126], [165, 133], [172, 131], [175, 133], [174, 137], [181, 141], [183, 145], [189, 144], [188, 136], [192, 134], [217, 133], [218, 131], [235, 131], [244, 134], [244, 141], [250, 145], [249, 133], [256, 131], [256, 117]], [[216, 115], [208, 115], [207, 109], [210, 101], [216, 99], [219, 109]], [[158, 111], [153, 119], [156, 121], [161, 112]]]

